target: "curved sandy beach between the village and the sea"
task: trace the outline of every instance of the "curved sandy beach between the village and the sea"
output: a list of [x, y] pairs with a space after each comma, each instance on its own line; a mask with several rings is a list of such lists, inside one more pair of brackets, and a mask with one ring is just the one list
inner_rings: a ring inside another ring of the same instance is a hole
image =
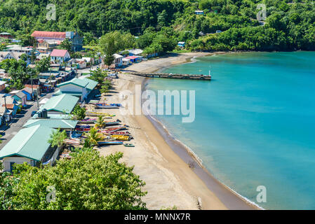
[[[133, 64], [128, 70], [156, 71], [204, 55], [209, 53], [185, 53], [177, 57], [162, 57]], [[108, 103], [121, 102], [119, 92], [123, 90], [130, 90], [134, 97], [135, 85], [142, 84], [144, 80], [142, 77], [120, 73], [119, 78], [113, 80], [113, 91], [101, 100]], [[147, 195], [143, 200], [148, 209], [174, 206], [177, 209], [257, 209], [223, 186], [199, 165], [189, 167], [187, 160], [194, 160], [192, 155], [178, 143], [168, 139], [163, 127], [159, 127], [154, 120], [144, 115], [122, 116], [119, 109], [98, 111], [116, 114], [121, 123], [129, 126], [129, 132], [134, 137], [130, 143], [135, 144], [134, 148], [120, 145], [104, 146], [98, 150], [101, 155], [123, 152], [123, 162], [128, 166], [134, 166], [135, 174], [146, 183], [143, 190], [147, 191]]]

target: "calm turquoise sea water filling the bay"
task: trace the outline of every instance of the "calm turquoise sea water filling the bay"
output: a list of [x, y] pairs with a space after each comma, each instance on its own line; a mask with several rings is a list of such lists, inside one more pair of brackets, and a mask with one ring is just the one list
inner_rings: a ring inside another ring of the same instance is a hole
[[[154, 78], [151, 90], [195, 90], [196, 119], [156, 116], [222, 183], [265, 209], [315, 209], [315, 52], [202, 57], [164, 71], [212, 81]], [[267, 189], [258, 203], [257, 186]]]

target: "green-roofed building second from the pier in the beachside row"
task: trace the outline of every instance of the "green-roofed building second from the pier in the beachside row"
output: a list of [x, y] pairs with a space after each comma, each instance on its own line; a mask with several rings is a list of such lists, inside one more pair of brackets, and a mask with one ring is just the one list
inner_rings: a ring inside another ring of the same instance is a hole
[[61, 94], [56, 97], [51, 97], [51, 99], [40, 107], [40, 111], [46, 109], [49, 114], [62, 114], [71, 113], [79, 101], [78, 97], [74, 97], [70, 94]]

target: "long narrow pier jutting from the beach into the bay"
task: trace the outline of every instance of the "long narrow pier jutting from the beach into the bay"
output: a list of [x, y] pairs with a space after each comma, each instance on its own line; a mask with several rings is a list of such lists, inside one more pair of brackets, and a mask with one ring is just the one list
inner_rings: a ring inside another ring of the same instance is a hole
[[192, 79], [192, 80], [211, 80], [211, 76], [207, 75], [192, 75], [192, 74], [177, 74], [177, 73], [147, 73], [147, 72], [128, 72], [130, 75], [143, 76], [149, 78], [175, 78], [175, 79]]

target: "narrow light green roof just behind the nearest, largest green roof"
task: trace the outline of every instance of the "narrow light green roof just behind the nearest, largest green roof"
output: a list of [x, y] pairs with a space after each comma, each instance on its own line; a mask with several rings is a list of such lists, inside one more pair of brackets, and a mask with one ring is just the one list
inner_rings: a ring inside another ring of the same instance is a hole
[[23, 127], [32, 127], [34, 125], [43, 125], [51, 128], [74, 129], [77, 120], [56, 120], [56, 119], [30, 119]]

